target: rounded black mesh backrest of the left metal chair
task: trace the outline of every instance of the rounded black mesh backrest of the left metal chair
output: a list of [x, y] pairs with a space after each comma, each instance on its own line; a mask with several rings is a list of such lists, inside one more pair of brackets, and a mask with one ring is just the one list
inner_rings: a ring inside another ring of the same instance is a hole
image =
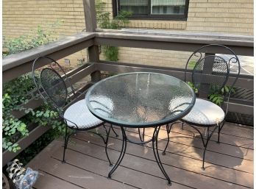
[[[42, 63], [42, 61], [47, 61], [48, 66], [40, 71], [39, 76], [36, 76], [37, 63]], [[32, 65], [32, 78], [43, 100], [58, 111], [65, 106], [70, 97], [67, 85], [71, 87], [72, 93], [74, 93], [65, 71], [50, 57], [38, 57], [34, 61]]]

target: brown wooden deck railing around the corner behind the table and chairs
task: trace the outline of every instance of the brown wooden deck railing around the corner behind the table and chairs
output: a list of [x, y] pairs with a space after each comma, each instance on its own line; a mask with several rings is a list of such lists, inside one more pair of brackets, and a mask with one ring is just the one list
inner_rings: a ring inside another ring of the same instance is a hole
[[[24, 51], [18, 54], [11, 54], [10, 56], [4, 57], [2, 65], [3, 82], [8, 82], [11, 79], [15, 79], [18, 76], [32, 71], [32, 62], [38, 56], [49, 56], [54, 60], [60, 60], [63, 57], [87, 48], [89, 48], [90, 63], [68, 72], [68, 76], [71, 79], [72, 84], [75, 84], [85, 76], [91, 75], [92, 81], [81, 88], [81, 91], [87, 90], [91, 85], [93, 85], [93, 82], [97, 82], [100, 79], [100, 71], [110, 71], [114, 73], [153, 71], [176, 76], [179, 79], [184, 78], [184, 69], [99, 61], [99, 54], [97, 54], [98, 45], [193, 51], [199, 46], [203, 46], [208, 43], [218, 43], [230, 46], [230, 48], [238, 55], [253, 56], [252, 37], [239, 38], [239, 36], [227, 36], [227, 38], [224, 38], [225, 36], [216, 37], [206, 35], [204, 35], [203, 38], [199, 37], [200, 36], [196, 34], [162, 35], [157, 32], [145, 34], [143, 32], [129, 32], [121, 30], [100, 30], [99, 32], [81, 33], [37, 49]], [[218, 49], [212, 49], [211, 51], [211, 53], [217, 52]], [[40, 62], [38, 63], [38, 68], [46, 64], [47, 62]], [[232, 79], [234, 78], [230, 76], [229, 82], [232, 82]], [[253, 79], [253, 76], [241, 75], [238, 82], [236, 82], [235, 87], [253, 89]], [[41, 100], [30, 99], [29, 103], [25, 104], [25, 106], [35, 109], [42, 103], [43, 101]], [[244, 101], [235, 99], [230, 102], [229, 107], [232, 112], [253, 115], [253, 102], [245, 103]], [[17, 118], [21, 118], [26, 115], [26, 113], [23, 112], [13, 112], [13, 114]], [[21, 151], [43, 135], [43, 133], [49, 128], [50, 126], [35, 126], [35, 129], [32, 129], [28, 137], [21, 138], [21, 140], [18, 141], [21, 146]], [[4, 166], [21, 151], [16, 153], [4, 151], [2, 165]]]

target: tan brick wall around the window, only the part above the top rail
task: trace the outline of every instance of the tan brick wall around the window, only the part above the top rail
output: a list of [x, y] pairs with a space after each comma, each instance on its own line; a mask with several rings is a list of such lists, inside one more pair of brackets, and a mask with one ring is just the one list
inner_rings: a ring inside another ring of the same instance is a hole
[[[112, 13], [112, 0], [104, 1]], [[187, 21], [132, 20], [128, 27], [253, 35], [253, 0], [190, 0]]]

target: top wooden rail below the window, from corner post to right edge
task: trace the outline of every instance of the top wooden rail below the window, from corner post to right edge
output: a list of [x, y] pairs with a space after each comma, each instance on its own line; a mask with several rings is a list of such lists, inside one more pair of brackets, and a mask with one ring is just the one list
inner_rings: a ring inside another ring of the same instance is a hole
[[[235, 54], [253, 56], [253, 37], [241, 35], [211, 35], [208, 34], [175, 34], [166, 32], [122, 31], [113, 29], [98, 29], [96, 44], [108, 46], [123, 46], [143, 49], [163, 49], [173, 51], [195, 51], [207, 44], [220, 44], [230, 47]], [[207, 53], [220, 53], [218, 47], [212, 47]], [[229, 54], [230, 52], [222, 52]]]

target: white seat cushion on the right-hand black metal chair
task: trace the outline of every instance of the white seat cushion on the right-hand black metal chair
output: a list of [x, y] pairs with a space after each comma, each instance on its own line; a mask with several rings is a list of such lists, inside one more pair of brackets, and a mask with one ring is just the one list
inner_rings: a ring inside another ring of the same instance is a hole
[[196, 99], [196, 102], [188, 115], [182, 118], [193, 124], [213, 125], [224, 120], [225, 113], [211, 101]]

